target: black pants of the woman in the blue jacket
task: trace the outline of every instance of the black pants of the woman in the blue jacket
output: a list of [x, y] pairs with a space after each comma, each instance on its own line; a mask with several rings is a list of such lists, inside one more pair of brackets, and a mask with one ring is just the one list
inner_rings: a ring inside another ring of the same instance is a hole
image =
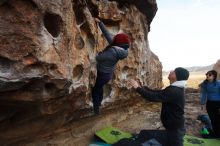
[[213, 136], [220, 138], [220, 101], [207, 101], [207, 113], [212, 123]]

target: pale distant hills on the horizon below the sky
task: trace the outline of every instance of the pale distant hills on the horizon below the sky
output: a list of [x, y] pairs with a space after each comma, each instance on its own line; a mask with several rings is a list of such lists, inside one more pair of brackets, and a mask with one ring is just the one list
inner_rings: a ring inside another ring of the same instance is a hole
[[[193, 66], [193, 67], [186, 67], [186, 69], [191, 73], [206, 73], [209, 70], [213, 69], [214, 64], [208, 66]], [[163, 71], [163, 75], [169, 74], [169, 71]]]

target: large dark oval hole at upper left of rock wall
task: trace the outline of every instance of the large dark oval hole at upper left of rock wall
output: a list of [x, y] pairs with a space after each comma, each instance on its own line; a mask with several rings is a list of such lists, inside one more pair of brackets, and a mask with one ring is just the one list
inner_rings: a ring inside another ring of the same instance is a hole
[[44, 15], [44, 26], [53, 37], [58, 37], [62, 25], [63, 21], [59, 15], [46, 12]]

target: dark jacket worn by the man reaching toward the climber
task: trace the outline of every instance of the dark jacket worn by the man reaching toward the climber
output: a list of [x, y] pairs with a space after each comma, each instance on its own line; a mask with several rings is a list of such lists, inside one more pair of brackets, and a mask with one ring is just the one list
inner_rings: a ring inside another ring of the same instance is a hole
[[168, 130], [184, 128], [184, 88], [168, 86], [163, 90], [152, 90], [147, 87], [137, 88], [137, 92], [152, 102], [162, 102], [161, 121]]

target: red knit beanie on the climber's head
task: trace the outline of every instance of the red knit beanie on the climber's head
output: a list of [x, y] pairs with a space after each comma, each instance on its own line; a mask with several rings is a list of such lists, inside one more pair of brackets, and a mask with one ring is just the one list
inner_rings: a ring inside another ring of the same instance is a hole
[[119, 33], [115, 35], [113, 43], [114, 44], [129, 44], [131, 42], [131, 38], [128, 34], [126, 33]]

